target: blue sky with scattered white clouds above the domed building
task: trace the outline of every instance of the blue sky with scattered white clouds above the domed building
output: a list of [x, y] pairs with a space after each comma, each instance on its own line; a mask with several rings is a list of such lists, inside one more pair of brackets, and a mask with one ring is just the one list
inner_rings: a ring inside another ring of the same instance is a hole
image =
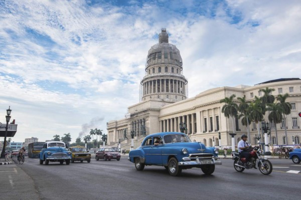
[[0, 0], [0, 122], [11, 106], [12, 141], [107, 133], [139, 102], [162, 28], [188, 97], [301, 78], [300, 0]]

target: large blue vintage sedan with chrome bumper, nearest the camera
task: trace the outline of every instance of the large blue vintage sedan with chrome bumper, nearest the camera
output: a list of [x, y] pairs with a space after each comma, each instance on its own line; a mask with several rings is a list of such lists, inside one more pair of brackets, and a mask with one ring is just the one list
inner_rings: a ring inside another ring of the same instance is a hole
[[192, 142], [185, 133], [160, 132], [147, 135], [141, 145], [129, 151], [128, 160], [137, 170], [145, 165], [164, 166], [171, 175], [177, 176], [182, 169], [201, 168], [205, 174], [214, 172], [218, 149], [206, 147], [201, 142]]

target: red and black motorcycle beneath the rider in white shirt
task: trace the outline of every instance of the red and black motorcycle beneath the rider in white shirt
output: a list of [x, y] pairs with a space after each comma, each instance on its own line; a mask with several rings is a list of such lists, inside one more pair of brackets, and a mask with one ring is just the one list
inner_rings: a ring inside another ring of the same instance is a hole
[[241, 157], [238, 152], [232, 152], [232, 159], [234, 160], [234, 168], [238, 172], [242, 172], [245, 169], [257, 168], [259, 171], [268, 175], [272, 172], [273, 166], [272, 163], [267, 159], [261, 156], [261, 150], [259, 146], [254, 146], [247, 149], [250, 153], [249, 161], [246, 161], [245, 157]]

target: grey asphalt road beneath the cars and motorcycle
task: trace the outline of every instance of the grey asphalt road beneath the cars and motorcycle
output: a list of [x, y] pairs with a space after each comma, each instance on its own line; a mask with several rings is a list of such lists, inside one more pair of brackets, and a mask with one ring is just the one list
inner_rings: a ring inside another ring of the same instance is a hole
[[[16, 158], [14, 158], [16, 160]], [[137, 171], [120, 161], [40, 165], [38, 158], [0, 167], [1, 199], [298, 199], [301, 164], [270, 159], [273, 172], [237, 172], [233, 160], [221, 159], [212, 175], [201, 169], [183, 170], [174, 177], [161, 166]], [[4, 197], [4, 198], [3, 198]]]

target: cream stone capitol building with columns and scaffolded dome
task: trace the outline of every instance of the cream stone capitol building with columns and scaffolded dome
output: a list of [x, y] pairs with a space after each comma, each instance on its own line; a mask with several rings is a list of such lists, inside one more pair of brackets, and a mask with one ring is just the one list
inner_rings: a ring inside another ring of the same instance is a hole
[[[109, 145], [118, 146], [120, 143], [121, 148], [130, 149], [133, 134], [136, 148], [144, 136], [150, 133], [180, 131], [181, 122], [187, 124], [186, 133], [191, 140], [201, 141], [208, 146], [229, 147], [232, 145], [229, 133], [235, 132], [237, 145], [241, 134], [247, 132], [247, 127], [242, 125], [241, 119], [236, 118], [233, 130], [232, 118], [224, 116], [221, 111], [224, 103], [220, 103], [220, 100], [235, 94], [235, 99], [245, 96], [246, 101], [253, 101], [256, 96], [263, 95], [259, 90], [266, 87], [274, 89], [271, 92], [274, 96], [288, 93], [286, 100], [292, 105], [290, 114], [285, 116], [285, 123], [284, 119], [281, 123], [270, 123], [269, 143], [273, 145], [300, 143], [301, 121], [298, 117], [301, 107], [300, 78], [267, 80], [253, 86], [242, 84], [209, 88], [194, 97], [187, 98], [188, 81], [182, 73], [185, 66], [179, 49], [170, 44], [168, 38], [166, 28], [162, 28], [159, 43], [148, 50], [145, 76], [141, 81], [141, 101], [130, 105], [124, 118], [107, 122]], [[236, 103], [238, 102], [236, 100]], [[264, 120], [268, 121], [267, 113]], [[261, 124], [258, 126], [252, 122], [249, 131], [252, 145], [264, 142]], [[258, 135], [262, 137], [258, 139]]]

